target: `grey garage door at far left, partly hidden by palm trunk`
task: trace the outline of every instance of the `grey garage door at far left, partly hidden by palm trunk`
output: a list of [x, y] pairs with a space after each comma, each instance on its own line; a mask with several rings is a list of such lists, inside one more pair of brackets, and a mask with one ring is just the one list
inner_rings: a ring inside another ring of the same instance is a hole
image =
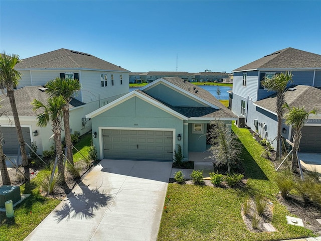
[[[31, 146], [31, 137], [29, 128], [21, 128], [22, 134], [24, 136], [25, 142]], [[1, 127], [2, 134], [4, 136], [4, 153], [9, 154], [18, 154], [19, 142], [17, 131], [15, 127]], [[27, 153], [29, 153], [29, 148], [26, 147]]]

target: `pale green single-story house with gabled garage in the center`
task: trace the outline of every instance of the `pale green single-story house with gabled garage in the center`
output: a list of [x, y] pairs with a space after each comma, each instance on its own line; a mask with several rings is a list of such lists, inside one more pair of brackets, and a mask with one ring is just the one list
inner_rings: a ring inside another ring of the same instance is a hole
[[86, 115], [99, 159], [172, 161], [209, 148], [210, 122], [236, 119], [208, 91], [179, 77], [159, 78]]

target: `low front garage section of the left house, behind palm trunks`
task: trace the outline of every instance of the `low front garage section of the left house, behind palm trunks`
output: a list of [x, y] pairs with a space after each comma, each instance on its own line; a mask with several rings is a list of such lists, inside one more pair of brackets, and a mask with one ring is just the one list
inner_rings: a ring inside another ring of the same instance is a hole
[[[37, 126], [37, 114], [42, 113], [43, 110], [38, 109], [37, 111], [34, 111], [31, 102], [34, 99], [38, 99], [43, 103], [47, 103], [48, 98], [49, 94], [45, 92], [45, 88], [41, 85], [25, 86], [15, 90], [16, 105], [24, 140], [29, 146], [31, 146], [32, 142], [36, 142], [38, 154], [42, 154], [44, 150], [50, 150], [51, 146], [54, 146], [54, 140], [51, 138], [53, 132], [50, 124], [48, 124], [46, 128]], [[17, 155], [19, 142], [16, 128], [13, 127], [15, 122], [7, 94], [0, 96], [0, 105], [0, 111], [5, 112], [8, 116], [3, 115], [0, 117], [1, 129], [5, 140], [3, 145], [4, 153], [6, 155]], [[82, 122], [78, 121], [86, 114], [85, 106], [85, 103], [74, 98], [70, 102], [70, 128], [72, 133], [81, 130], [90, 131], [90, 125], [83, 126]], [[64, 137], [64, 132], [62, 132], [62, 137]], [[29, 148], [26, 150], [27, 153], [30, 152]]]

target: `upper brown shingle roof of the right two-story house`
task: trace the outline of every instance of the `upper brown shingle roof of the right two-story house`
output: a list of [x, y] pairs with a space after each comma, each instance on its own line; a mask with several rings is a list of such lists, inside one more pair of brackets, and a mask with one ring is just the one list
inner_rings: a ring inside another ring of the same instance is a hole
[[249, 64], [239, 67], [232, 72], [259, 69], [294, 69], [320, 68], [321, 55], [299, 49], [286, 48], [264, 56]]

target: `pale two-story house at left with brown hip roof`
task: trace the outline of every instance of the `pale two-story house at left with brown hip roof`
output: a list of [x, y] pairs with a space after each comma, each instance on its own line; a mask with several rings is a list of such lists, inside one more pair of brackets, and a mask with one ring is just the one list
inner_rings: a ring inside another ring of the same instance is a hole
[[[71, 126], [73, 126], [72, 132], [78, 131], [81, 134], [84, 134], [91, 129], [90, 119], [85, 118], [87, 113], [90, 113], [129, 92], [130, 71], [90, 54], [74, 50], [58, 49], [23, 59], [16, 65], [15, 69], [22, 74], [22, 79], [17, 86], [15, 96], [20, 93], [18, 91], [20, 88], [27, 86], [37, 86], [36, 88], [39, 88], [39, 86], [45, 85], [49, 80], [56, 77], [78, 79], [81, 83], [81, 90], [76, 93], [74, 98], [84, 104], [81, 105], [81, 110], [76, 111], [77, 114], [72, 115], [70, 123]], [[25, 90], [27, 91], [27, 89]], [[37, 95], [34, 97], [36, 98]], [[33, 99], [31, 98], [16, 99], [16, 101], [22, 101], [24, 105], [30, 104], [32, 100]], [[75, 108], [79, 107], [77, 106]], [[22, 108], [20, 111], [24, 111], [24, 109]], [[32, 112], [32, 109], [28, 109], [28, 111], [31, 111], [30, 113], [20, 111], [18, 110], [19, 116], [22, 116], [20, 119], [21, 125], [29, 127], [29, 139], [33, 140], [34, 138], [31, 134], [33, 130], [35, 130], [35, 126], [30, 124], [29, 119], [31, 118], [30, 116], [33, 116], [32, 118], [34, 120], [34, 113]], [[74, 110], [71, 110], [71, 112], [73, 111]], [[24, 119], [23, 116], [29, 117]], [[15, 133], [14, 123], [11, 128], [9, 133]], [[51, 133], [50, 129], [48, 129], [48, 132]], [[48, 135], [51, 136], [50, 133], [46, 135], [41, 133], [38, 135], [38, 138], [43, 135], [47, 138]], [[9, 135], [9, 137], [7, 137], [7, 143], [10, 138], [12, 138], [10, 142], [17, 141], [16, 136]], [[43, 140], [42, 143], [44, 144], [45, 141]], [[40, 148], [39, 151], [41, 152], [47, 149], [48, 145], [44, 144], [43, 149]]]

